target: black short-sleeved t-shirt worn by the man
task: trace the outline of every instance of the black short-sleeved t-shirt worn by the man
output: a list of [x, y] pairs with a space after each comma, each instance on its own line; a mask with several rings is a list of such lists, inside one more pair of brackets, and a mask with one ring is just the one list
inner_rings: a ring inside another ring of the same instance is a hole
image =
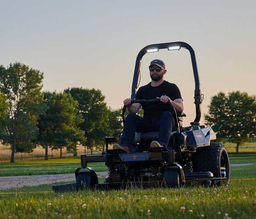
[[[167, 81], [163, 81], [157, 87], [152, 87], [151, 82], [147, 85], [140, 87], [136, 93], [136, 99], [156, 99], [157, 97], [161, 97], [162, 95], [166, 95], [170, 97], [171, 100], [182, 99], [180, 90], [176, 86], [176, 84], [169, 83]], [[161, 117], [162, 113], [165, 111], [170, 111], [170, 107], [162, 102], [153, 102], [153, 103], [143, 103], [142, 109], [144, 110], [143, 117], [152, 118], [152, 117]]]

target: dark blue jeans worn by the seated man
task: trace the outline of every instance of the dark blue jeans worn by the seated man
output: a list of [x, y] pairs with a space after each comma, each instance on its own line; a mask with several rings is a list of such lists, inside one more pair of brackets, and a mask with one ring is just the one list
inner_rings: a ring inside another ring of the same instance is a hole
[[121, 146], [132, 148], [135, 132], [159, 132], [158, 143], [167, 147], [175, 128], [174, 118], [169, 111], [163, 112], [160, 118], [154, 117], [151, 119], [129, 113], [124, 123]]

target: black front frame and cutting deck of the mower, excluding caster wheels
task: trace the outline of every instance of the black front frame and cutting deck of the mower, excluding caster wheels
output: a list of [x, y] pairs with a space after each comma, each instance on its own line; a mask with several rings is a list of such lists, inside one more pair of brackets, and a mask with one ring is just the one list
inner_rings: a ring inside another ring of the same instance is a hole
[[[210, 171], [204, 172], [184, 172], [182, 167], [174, 162], [175, 154], [174, 150], [168, 151], [157, 151], [157, 152], [140, 152], [140, 153], [122, 153], [123, 151], [111, 151], [111, 154], [108, 155], [81, 155], [81, 166], [75, 171], [76, 178], [81, 170], [89, 170], [90, 176], [94, 178], [95, 181], [98, 181], [97, 174], [93, 169], [87, 167], [87, 163], [90, 162], [107, 162], [111, 163], [130, 163], [138, 162], [143, 165], [150, 166], [159, 166], [163, 161], [167, 161], [164, 167], [176, 166], [180, 170], [181, 178], [181, 187], [185, 186], [224, 186], [227, 185], [227, 178], [213, 177], [213, 174]], [[118, 154], [118, 152], [121, 152]], [[97, 178], [97, 179], [96, 179]], [[111, 182], [106, 182], [110, 181]], [[161, 171], [117, 171], [116, 173], [109, 174], [106, 177], [105, 182], [96, 183], [91, 189], [125, 189], [125, 188], [159, 188], [159, 187], [168, 187], [164, 183], [164, 177]], [[64, 185], [55, 185], [53, 186], [54, 192], [67, 192], [67, 191], [76, 191], [79, 190], [77, 182], [64, 184]]]

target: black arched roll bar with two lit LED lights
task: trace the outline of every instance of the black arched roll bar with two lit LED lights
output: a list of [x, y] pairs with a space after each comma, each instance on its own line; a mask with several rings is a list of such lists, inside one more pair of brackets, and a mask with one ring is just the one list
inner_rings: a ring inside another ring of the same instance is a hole
[[199, 79], [199, 74], [197, 70], [195, 51], [192, 49], [192, 47], [189, 44], [185, 42], [169, 42], [169, 43], [163, 43], [163, 44], [152, 44], [152, 45], [145, 46], [142, 50], [140, 50], [135, 63], [135, 69], [134, 69], [133, 80], [132, 80], [131, 99], [134, 99], [136, 95], [136, 91], [138, 88], [140, 64], [144, 54], [148, 53], [149, 50], [151, 51], [155, 50], [154, 52], [158, 52], [160, 49], [172, 50], [172, 48], [176, 48], [176, 49], [185, 48], [185, 49], [188, 49], [190, 52], [193, 74], [195, 79], [195, 96], [194, 96], [195, 102], [194, 103], [196, 105], [196, 118], [194, 122], [199, 122], [201, 118], [201, 103], [203, 101], [203, 95], [200, 90], [200, 79]]

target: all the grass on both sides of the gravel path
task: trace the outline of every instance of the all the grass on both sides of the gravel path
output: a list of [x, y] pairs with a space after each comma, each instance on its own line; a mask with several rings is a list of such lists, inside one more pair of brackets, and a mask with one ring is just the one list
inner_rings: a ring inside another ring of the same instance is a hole
[[[229, 152], [229, 158], [230, 164], [256, 163], [252, 147], [238, 155]], [[0, 162], [0, 176], [74, 173], [79, 166], [79, 156]], [[91, 163], [90, 167], [107, 171], [104, 163]], [[0, 190], [0, 218], [256, 218], [256, 165], [231, 166], [230, 185], [211, 188], [54, 193], [53, 185]]]

